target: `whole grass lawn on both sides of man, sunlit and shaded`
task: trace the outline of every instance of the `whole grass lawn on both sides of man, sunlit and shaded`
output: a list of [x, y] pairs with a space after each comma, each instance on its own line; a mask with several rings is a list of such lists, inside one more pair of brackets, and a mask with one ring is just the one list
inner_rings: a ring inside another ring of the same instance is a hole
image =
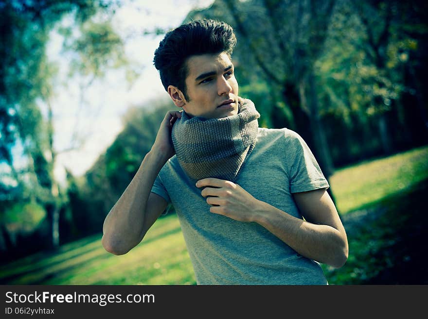
[[[350, 255], [341, 269], [323, 265], [330, 284], [389, 283], [397, 276], [396, 269], [408, 270], [410, 266], [418, 269], [419, 246], [410, 245], [412, 251], [406, 247], [423, 238], [423, 228], [418, 224], [422, 219], [415, 217], [426, 215], [419, 203], [427, 190], [427, 158], [428, 147], [423, 147], [341, 168], [332, 176], [330, 184], [348, 233]], [[412, 280], [408, 278], [407, 282]], [[63, 245], [55, 253], [40, 252], [0, 266], [0, 283], [193, 285], [196, 282], [178, 219], [170, 214], [157, 220], [143, 242], [125, 255], [107, 253], [101, 245], [101, 235], [94, 235]]]

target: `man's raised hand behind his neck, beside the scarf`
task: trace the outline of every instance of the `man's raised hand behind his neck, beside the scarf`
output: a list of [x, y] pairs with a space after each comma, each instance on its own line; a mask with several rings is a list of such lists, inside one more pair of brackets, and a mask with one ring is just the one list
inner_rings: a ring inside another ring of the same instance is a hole
[[152, 151], [156, 150], [160, 152], [165, 156], [166, 160], [175, 154], [174, 145], [172, 144], [171, 139], [171, 130], [177, 118], [181, 118], [181, 112], [169, 111], [166, 113], [162, 123], [160, 123], [158, 135], [156, 136], [155, 143], [152, 146]]

